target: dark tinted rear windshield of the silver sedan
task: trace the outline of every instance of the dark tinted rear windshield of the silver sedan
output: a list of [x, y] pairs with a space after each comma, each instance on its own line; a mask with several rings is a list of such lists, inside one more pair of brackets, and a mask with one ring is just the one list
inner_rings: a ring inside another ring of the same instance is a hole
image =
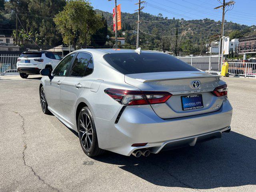
[[112, 53], [103, 58], [122, 74], [199, 71], [168, 54], [160, 53]]

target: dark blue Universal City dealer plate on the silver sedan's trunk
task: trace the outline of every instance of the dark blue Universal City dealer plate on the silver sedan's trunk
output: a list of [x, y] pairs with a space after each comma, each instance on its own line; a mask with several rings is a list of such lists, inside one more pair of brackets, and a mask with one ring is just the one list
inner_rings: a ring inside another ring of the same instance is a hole
[[183, 111], [204, 108], [202, 94], [184, 95], [180, 99]]

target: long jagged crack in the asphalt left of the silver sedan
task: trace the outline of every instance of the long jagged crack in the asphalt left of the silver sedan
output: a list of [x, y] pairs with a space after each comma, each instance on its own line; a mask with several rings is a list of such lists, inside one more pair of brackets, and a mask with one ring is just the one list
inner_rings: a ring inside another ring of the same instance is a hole
[[25, 166], [27, 166], [28, 168], [30, 168], [30, 170], [32, 170], [32, 172], [33, 172], [33, 174], [43, 183], [43, 184], [45, 184], [46, 186], [48, 186], [49, 188], [51, 188], [52, 190], [55, 190], [55, 191], [57, 191], [57, 192], [60, 192], [60, 190], [59, 189], [57, 189], [57, 188], [54, 188], [53, 186], [51, 186], [50, 184], [48, 184], [48, 183], [46, 183], [45, 181], [44, 181], [44, 179], [42, 179], [36, 172], [35, 172], [35, 170], [33, 169], [33, 167], [32, 166], [30, 166], [30, 165], [28, 165], [27, 164], [27, 162], [26, 162], [26, 154], [25, 154], [25, 151], [26, 151], [26, 149], [27, 149], [27, 144], [26, 144], [26, 130], [25, 130], [25, 128], [24, 128], [24, 126], [25, 126], [25, 119], [24, 119], [24, 117], [20, 114], [20, 113], [18, 113], [18, 112], [16, 112], [16, 111], [12, 111], [12, 110], [7, 110], [7, 109], [0, 109], [0, 110], [6, 110], [6, 111], [9, 111], [9, 112], [14, 112], [14, 113], [16, 113], [16, 114], [18, 114], [21, 118], [22, 118], [22, 125], [21, 125], [21, 128], [22, 128], [22, 131], [23, 131], [23, 133], [22, 133], [22, 135], [23, 135], [23, 142], [24, 142], [24, 148], [23, 148], [23, 151], [22, 151], [22, 159], [23, 159], [23, 164], [25, 165]]

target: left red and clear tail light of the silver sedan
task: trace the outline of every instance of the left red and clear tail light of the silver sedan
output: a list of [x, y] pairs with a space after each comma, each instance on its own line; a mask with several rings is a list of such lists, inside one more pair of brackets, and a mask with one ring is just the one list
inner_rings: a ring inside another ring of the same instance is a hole
[[104, 92], [123, 105], [148, 105], [165, 103], [171, 96], [169, 92], [129, 91], [105, 89]]

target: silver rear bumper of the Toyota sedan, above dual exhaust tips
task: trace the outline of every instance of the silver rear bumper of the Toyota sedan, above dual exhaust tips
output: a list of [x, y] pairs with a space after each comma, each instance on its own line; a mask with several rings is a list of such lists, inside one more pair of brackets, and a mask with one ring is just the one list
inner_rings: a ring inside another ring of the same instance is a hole
[[[134, 150], [160, 150], [194, 146], [200, 140], [219, 138], [230, 129], [232, 106], [225, 99], [220, 110], [182, 118], [162, 119], [148, 105], [127, 106], [119, 121], [94, 118], [99, 147], [130, 156]], [[147, 143], [132, 147], [132, 144]]]

